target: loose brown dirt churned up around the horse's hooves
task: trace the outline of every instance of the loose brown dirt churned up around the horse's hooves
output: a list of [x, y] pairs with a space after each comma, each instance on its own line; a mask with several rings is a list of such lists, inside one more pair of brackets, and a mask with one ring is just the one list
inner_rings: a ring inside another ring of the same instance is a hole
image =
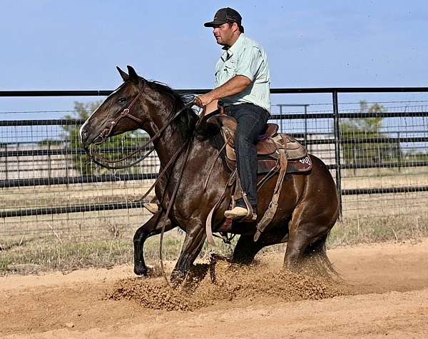
[[[208, 274], [209, 272], [209, 274]], [[225, 261], [199, 264], [180, 288], [160, 278], [119, 280], [107, 298], [134, 300], [156, 310], [195, 310], [224, 300], [275, 297], [284, 301], [318, 300], [349, 294], [344, 285], [313, 274], [272, 272], [263, 265], [240, 266]]]

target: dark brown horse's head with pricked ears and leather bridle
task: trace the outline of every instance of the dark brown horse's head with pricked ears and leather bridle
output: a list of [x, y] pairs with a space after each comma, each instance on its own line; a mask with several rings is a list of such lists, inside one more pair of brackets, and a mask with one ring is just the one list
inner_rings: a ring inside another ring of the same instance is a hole
[[118, 67], [117, 69], [123, 84], [113, 91], [81, 126], [81, 141], [86, 149], [93, 143], [102, 143], [110, 136], [141, 128], [145, 122], [145, 117], [136, 112], [143, 109], [141, 106], [144, 103], [139, 99], [143, 97], [147, 81], [138, 76], [131, 66], [128, 66], [129, 74]]

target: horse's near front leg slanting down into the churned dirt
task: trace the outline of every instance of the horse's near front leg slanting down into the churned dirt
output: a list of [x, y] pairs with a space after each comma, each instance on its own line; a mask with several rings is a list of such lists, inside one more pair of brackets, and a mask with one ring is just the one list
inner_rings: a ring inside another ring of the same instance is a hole
[[175, 285], [183, 282], [191, 265], [193, 265], [193, 261], [198, 257], [206, 238], [203, 223], [198, 222], [194, 226], [188, 227], [188, 230], [181, 248], [180, 258], [178, 258], [173, 273], [171, 273], [171, 281]]

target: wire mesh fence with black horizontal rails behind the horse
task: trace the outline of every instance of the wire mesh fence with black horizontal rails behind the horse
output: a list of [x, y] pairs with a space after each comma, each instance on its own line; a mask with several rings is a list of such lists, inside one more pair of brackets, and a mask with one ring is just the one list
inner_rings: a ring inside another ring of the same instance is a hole
[[[0, 112], [0, 246], [24, 238], [63, 243], [130, 236], [147, 220], [150, 213], [136, 201], [156, 178], [156, 154], [128, 170], [109, 171], [87, 162], [78, 142], [82, 119], [16, 120], [18, 113], [41, 111]], [[278, 104], [270, 122], [327, 164], [341, 192], [342, 218], [365, 223], [400, 217], [412, 223], [427, 221], [427, 119], [428, 102], [418, 100], [336, 108], [334, 102], [333, 108]], [[98, 151], [118, 159], [147, 138], [124, 133]]]

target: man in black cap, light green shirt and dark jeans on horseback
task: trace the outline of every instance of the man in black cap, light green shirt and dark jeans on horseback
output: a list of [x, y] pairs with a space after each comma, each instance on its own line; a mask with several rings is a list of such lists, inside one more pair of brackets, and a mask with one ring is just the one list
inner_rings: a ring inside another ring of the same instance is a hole
[[[264, 49], [244, 35], [241, 21], [238, 11], [227, 7], [219, 9], [213, 21], [204, 24], [213, 27], [217, 44], [223, 46], [223, 54], [215, 66], [215, 88], [198, 96], [195, 104], [205, 107], [205, 114], [222, 106], [225, 113], [238, 122], [235, 134], [238, 176], [243, 195], [247, 196], [254, 212], [249, 216], [250, 206], [240, 198], [234, 208], [225, 211], [225, 217], [255, 220], [258, 203], [255, 145], [270, 116], [270, 72]], [[152, 213], [157, 211], [153, 202], [145, 206]]]

